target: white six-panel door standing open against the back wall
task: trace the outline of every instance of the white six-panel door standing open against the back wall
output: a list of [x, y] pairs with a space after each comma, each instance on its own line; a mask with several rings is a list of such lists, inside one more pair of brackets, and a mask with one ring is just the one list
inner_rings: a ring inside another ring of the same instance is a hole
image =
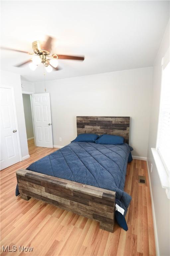
[[32, 106], [36, 146], [53, 148], [49, 93], [32, 94]]

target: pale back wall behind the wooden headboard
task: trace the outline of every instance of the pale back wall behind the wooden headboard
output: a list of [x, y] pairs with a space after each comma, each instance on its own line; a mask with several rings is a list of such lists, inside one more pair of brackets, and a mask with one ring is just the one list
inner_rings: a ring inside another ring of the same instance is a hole
[[[76, 116], [130, 116], [133, 155], [146, 157], [151, 87], [152, 67], [46, 81], [53, 144], [66, 145], [77, 136]], [[42, 82], [35, 91], [44, 92]]]

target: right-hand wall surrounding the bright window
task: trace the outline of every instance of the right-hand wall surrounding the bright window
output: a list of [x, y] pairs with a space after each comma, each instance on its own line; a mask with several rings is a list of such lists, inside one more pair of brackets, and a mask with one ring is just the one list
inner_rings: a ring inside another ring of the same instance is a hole
[[[161, 89], [161, 61], [170, 45], [169, 29], [170, 28], [168, 24], [153, 67], [152, 104], [147, 155], [151, 190], [153, 196], [152, 211], [155, 214], [154, 232], [156, 238], [158, 239], [157, 254], [159, 255], [170, 255], [170, 200], [166, 196], [165, 189], [161, 187], [158, 172], [151, 153], [151, 147], [156, 147]], [[151, 163], [153, 165], [152, 172], [150, 172]]]

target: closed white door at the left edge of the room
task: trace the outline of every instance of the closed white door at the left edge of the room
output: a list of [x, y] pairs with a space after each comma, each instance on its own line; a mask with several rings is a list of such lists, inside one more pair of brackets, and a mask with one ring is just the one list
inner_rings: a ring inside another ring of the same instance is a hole
[[2, 170], [20, 161], [12, 89], [0, 88], [0, 107]]

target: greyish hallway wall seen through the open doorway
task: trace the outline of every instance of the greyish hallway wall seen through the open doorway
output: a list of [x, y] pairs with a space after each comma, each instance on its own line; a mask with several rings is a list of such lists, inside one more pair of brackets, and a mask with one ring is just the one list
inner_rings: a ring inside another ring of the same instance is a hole
[[23, 105], [24, 105], [24, 116], [25, 116], [27, 139], [30, 139], [34, 137], [30, 94], [23, 94]]

